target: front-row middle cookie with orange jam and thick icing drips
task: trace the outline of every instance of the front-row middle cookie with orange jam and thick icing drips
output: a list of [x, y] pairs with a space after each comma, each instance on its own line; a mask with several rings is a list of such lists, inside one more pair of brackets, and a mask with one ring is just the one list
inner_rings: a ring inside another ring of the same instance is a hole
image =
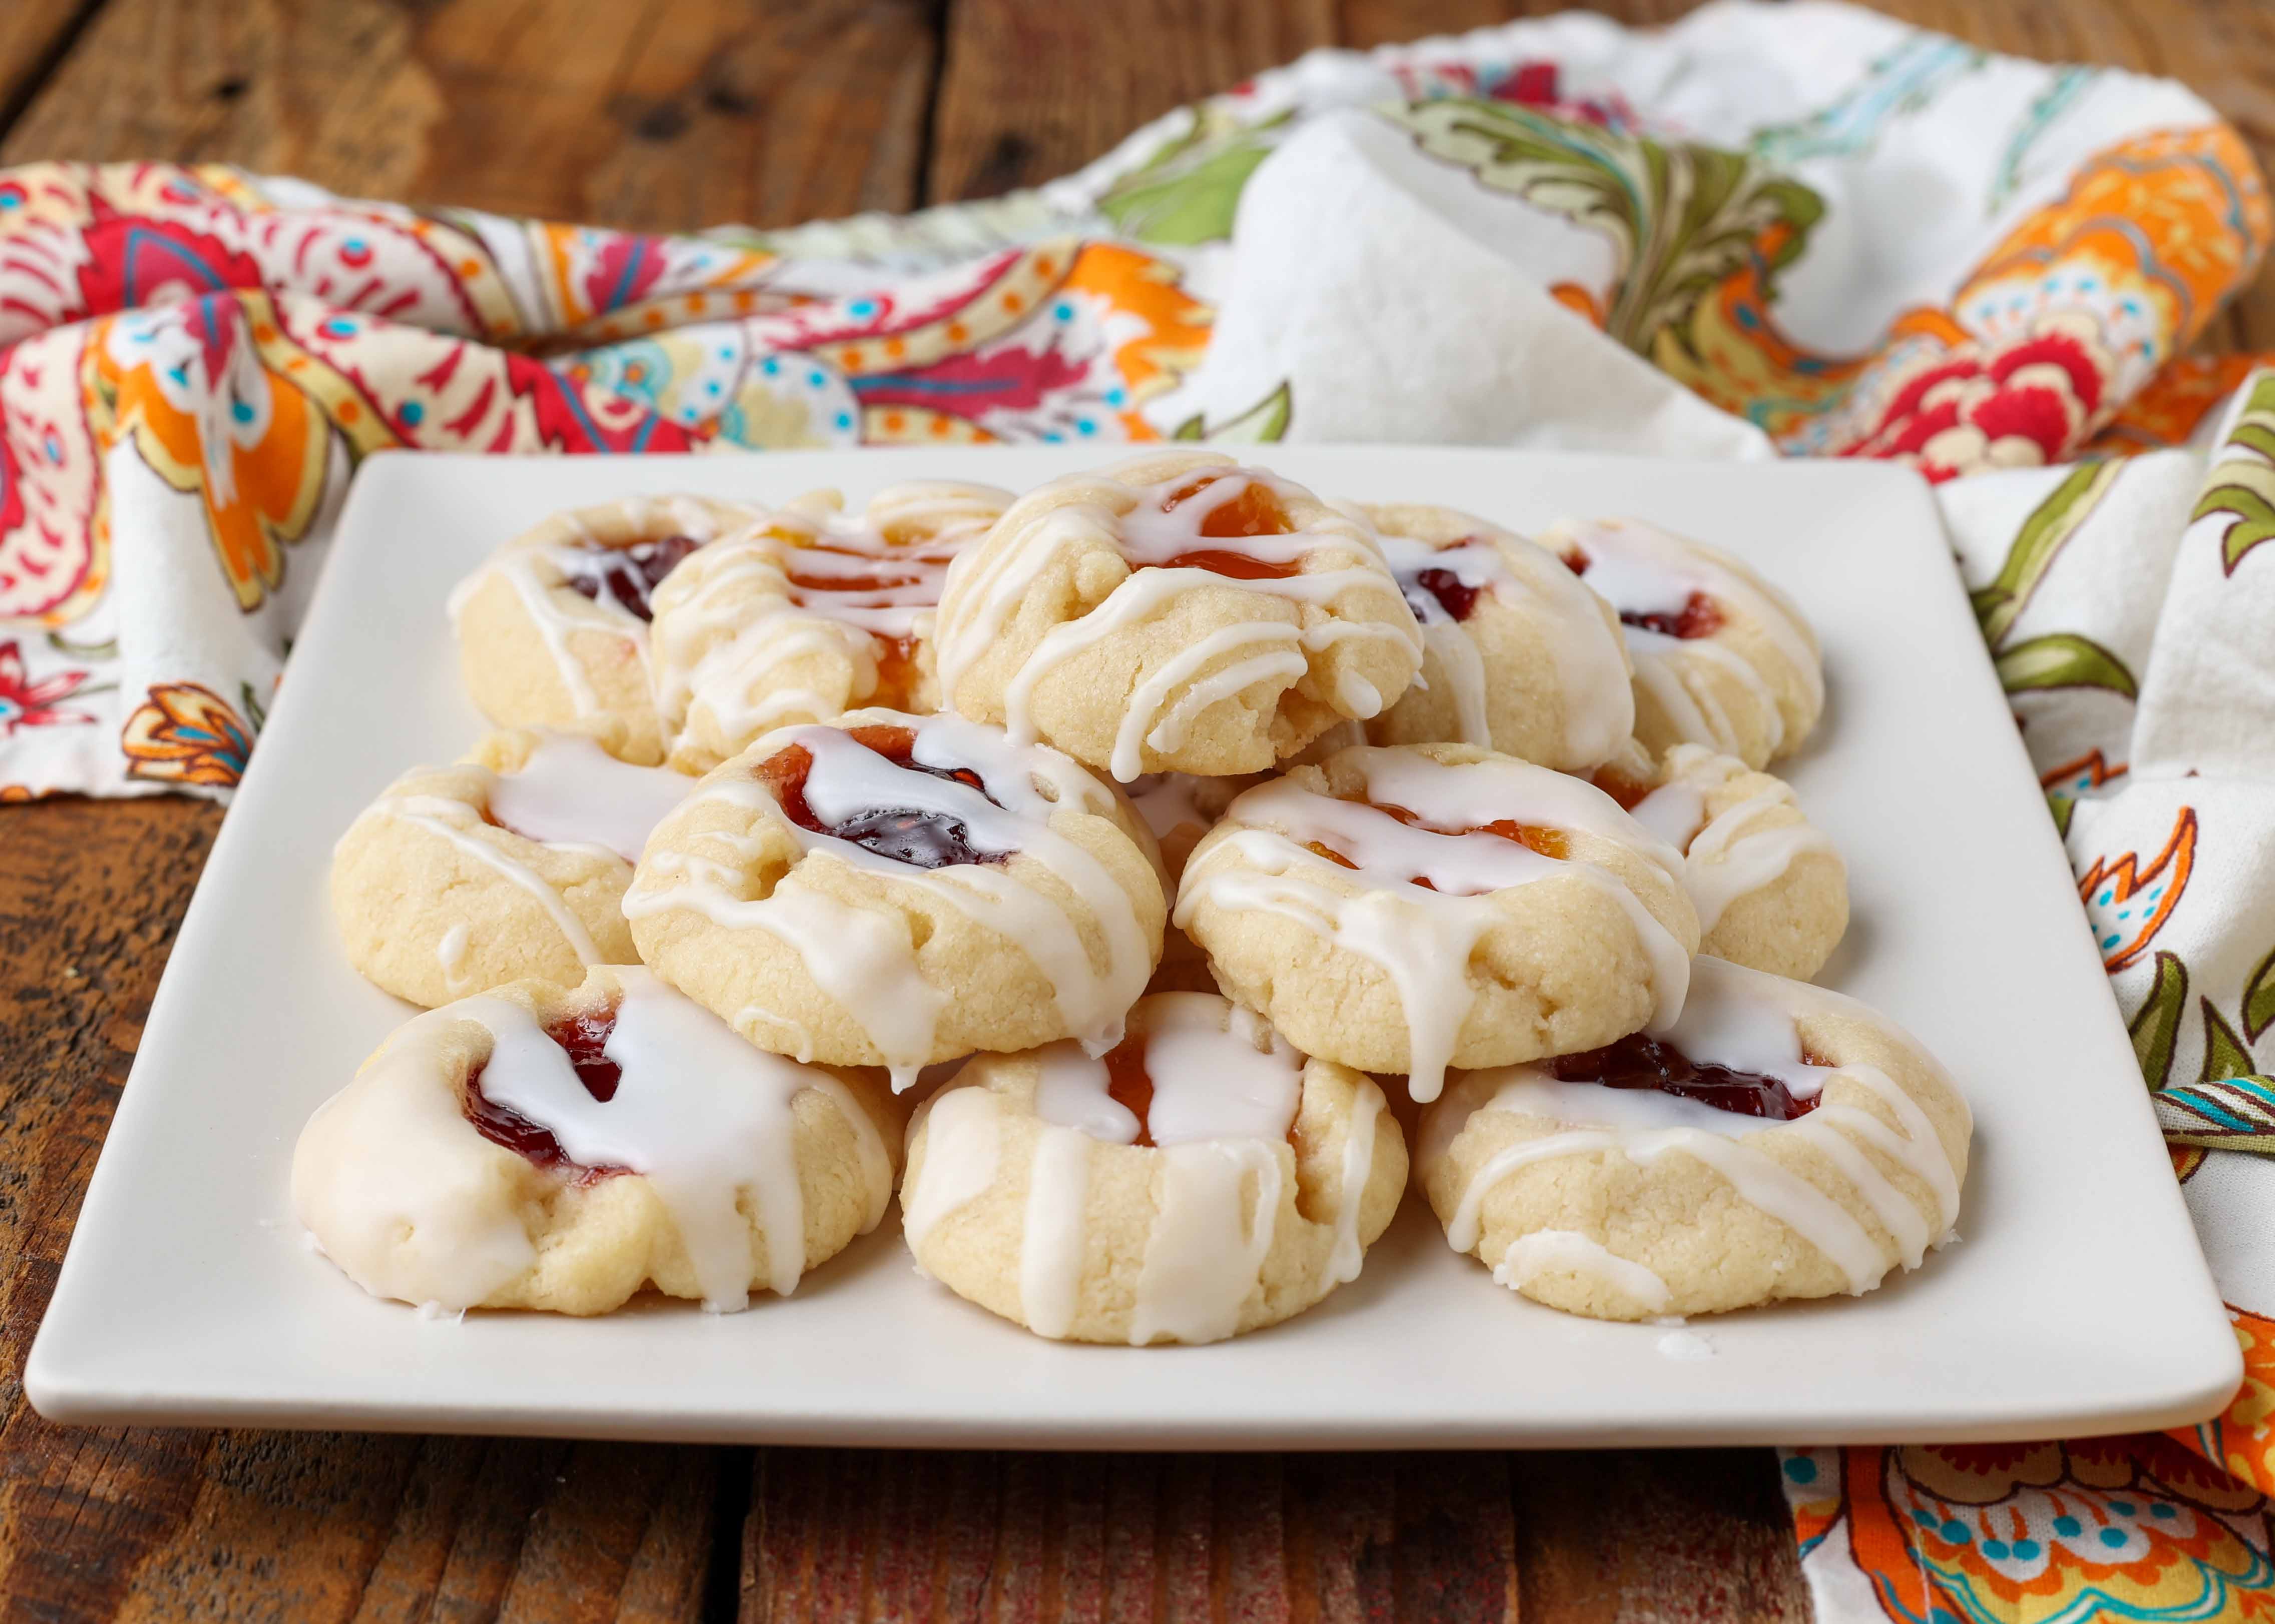
[[981, 1055], [921, 1108], [901, 1187], [917, 1265], [1074, 1342], [1217, 1342], [1345, 1281], [1406, 1190], [1381, 1089], [1206, 992], [1078, 1044]]

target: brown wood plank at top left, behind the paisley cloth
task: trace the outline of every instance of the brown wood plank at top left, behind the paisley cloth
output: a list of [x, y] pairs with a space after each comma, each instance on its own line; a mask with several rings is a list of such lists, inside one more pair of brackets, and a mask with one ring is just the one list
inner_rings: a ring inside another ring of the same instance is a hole
[[173, 157], [642, 230], [792, 225], [917, 200], [935, 61], [928, 0], [109, 0], [0, 161]]

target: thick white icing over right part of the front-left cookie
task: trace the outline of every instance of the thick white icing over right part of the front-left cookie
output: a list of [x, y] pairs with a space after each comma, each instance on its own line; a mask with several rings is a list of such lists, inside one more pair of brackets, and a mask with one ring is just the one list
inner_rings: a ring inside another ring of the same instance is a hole
[[494, 1039], [482, 1096], [546, 1128], [578, 1167], [642, 1174], [671, 1212], [703, 1306], [714, 1312], [751, 1301], [751, 1226], [739, 1208], [748, 1196], [767, 1242], [767, 1285], [787, 1296], [805, 1274], [792, 1101], [819, 1089], [853, 1128], [869, 1190], [864, 1228], [892, 1190], [876, 1124], [826, 1071], [753, 1049], [644, 969], [617, 973], [623, 999], [603, 1053], [621, 1078], [607, 1101], [585, 1089], [569, 1053], [523, 1005], [498, 996], [448, 1005], [453, 1019], [478, 1021]]

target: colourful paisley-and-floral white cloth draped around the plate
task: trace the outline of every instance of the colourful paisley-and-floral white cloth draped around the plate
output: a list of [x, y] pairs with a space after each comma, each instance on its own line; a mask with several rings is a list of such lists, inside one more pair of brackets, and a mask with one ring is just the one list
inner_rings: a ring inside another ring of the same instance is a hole
[[2184, 357], [2268, 237], [2177, 84], [1743, 0], [1315, 52], [1040, 191], [769, 234], [0, 171], [0, 798], [228, 794], [382, 450], [1909, 462], [2250, 1374], [2170, 1437], [1786, 1453], [1818, 1617], [2275, 1615], [2275, 371]]

